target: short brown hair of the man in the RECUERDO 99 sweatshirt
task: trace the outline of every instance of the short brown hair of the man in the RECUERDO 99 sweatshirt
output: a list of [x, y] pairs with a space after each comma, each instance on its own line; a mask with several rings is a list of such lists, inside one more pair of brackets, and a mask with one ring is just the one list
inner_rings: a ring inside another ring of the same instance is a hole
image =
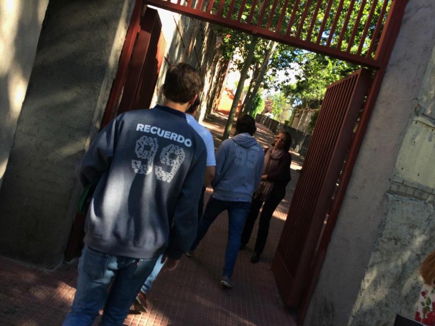
[[202, 89], [197, 70], [186, 63], [171, 66], [165, 76], [165, 97], [176, 103], [187, 103]]

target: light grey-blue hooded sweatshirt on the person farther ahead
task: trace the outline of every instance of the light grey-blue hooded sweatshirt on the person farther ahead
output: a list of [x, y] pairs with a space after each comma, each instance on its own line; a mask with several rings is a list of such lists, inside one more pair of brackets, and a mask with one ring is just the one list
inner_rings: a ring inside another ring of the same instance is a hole
[[263, 172], [264, 151], [249, 133], [222, 142], [216, 151], [213, 198], [251, 202]]

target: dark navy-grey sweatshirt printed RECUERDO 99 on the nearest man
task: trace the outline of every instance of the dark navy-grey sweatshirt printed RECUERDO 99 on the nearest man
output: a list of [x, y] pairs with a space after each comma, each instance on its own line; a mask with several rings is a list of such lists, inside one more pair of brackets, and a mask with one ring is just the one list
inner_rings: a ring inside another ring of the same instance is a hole
[[184, 113], [156, 105], [118, 116], [78, 167], [81, 184], [98, 182], [85, 225], [87, 246], [131, 258], [165, 251], [180, 258], [196, 236], [206, 157]]

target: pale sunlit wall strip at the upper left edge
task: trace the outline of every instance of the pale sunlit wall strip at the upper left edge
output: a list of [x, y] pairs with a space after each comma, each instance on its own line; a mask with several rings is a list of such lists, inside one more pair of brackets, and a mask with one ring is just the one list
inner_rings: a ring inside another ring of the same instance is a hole
[[0, 0], [0, 188], [48, 0]]

